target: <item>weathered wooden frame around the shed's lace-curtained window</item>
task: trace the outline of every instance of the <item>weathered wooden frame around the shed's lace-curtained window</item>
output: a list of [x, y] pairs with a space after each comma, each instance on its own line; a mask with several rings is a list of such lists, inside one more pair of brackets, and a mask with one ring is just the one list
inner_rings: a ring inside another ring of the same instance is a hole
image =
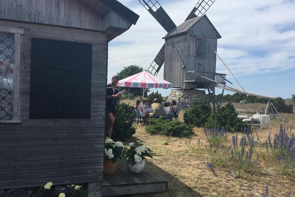
[[0, 26], [0, 33], [14, 34], [14, 72], [12, 88], [12, 120], [0, 120], [0, 123], [21, 123], [20, 120], [20, 68], [21, 68], [21, 34], [24, 34], [23, 28], [10, 28]]

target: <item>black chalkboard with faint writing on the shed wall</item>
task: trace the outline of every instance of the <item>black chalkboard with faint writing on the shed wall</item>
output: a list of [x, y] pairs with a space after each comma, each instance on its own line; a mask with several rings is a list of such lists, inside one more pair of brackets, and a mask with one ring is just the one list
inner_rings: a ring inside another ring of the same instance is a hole
[[32, 38], [31, 119], [89, 119], [92, 44]]

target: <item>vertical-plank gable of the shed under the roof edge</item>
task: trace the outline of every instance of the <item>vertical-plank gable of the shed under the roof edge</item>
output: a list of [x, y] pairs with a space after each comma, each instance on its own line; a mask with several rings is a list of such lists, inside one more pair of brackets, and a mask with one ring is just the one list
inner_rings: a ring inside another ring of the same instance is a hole
[[0, 18], [99, 31], [115, 27], [110, 34], [116, 36], [131, 26], [99, 1], [89, 0], [0, 0]]

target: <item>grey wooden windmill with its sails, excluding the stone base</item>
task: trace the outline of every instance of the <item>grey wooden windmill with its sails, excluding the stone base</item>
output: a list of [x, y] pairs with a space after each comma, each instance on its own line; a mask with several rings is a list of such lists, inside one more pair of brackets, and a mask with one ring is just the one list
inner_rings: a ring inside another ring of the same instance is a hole
[[216, 73], [214, 50], [221, 35], [205, 15], [215, 0], [199, 0], [179, 26], [157, 0], [139, 1], [167, 31], [165, 44], [148, 67], [151, 74], [157, 75], [164, 64], [164, 79], [184, 90], [199, 88], [214, 93], [216, 84], [226, 83], [226, 74]]

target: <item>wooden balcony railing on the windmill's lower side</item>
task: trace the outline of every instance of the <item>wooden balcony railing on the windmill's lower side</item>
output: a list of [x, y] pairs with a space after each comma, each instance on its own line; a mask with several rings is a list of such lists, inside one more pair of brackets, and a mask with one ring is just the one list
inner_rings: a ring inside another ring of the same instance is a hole
[[216, 72], [197, 72], [197, 73], [191, 72], [191, 71], [185, 72], [185, 81], [187, 82], [195, 81], [199, 79], [205, 79], [204, 77], [207, 77], [212, 80], [214, 80], [214, 77], [215, 77], [215, 82], [226, 84], [226, 74], [216, 73]]

